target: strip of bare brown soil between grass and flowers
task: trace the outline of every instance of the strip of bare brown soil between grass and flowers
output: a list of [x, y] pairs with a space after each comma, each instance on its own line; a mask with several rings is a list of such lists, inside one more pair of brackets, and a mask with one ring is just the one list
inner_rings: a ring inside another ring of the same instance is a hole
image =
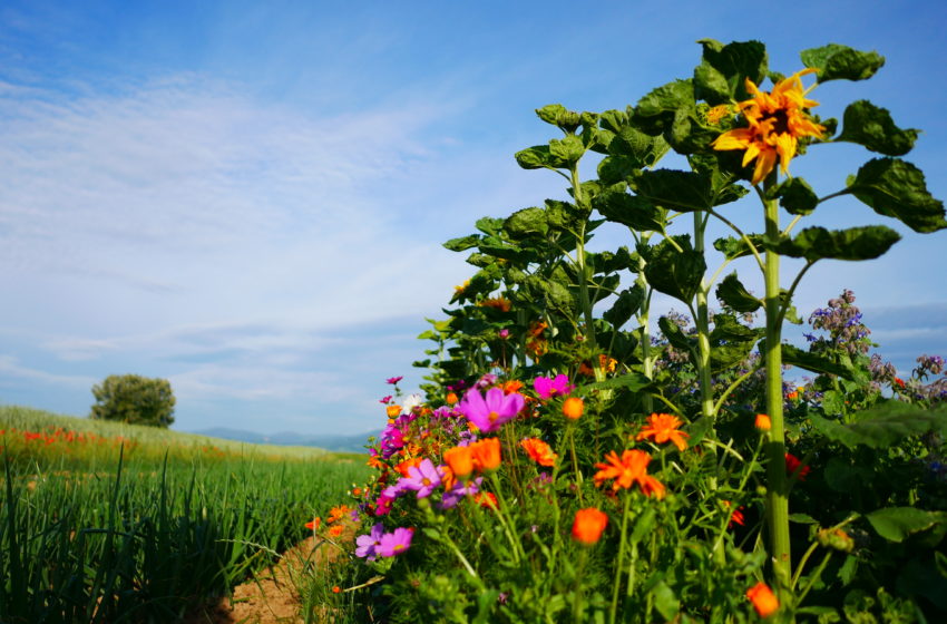
[[296, 585], [306, 566], [312, 569], [328, 563], [325, 547], [313, 552], [315, 542], [307, 538], [283, 554], [275, 566], [261, 571], [234, 589], [233, 598], [219, 598], [189, 613], [184, 624], [302, 624], [302, 597]]

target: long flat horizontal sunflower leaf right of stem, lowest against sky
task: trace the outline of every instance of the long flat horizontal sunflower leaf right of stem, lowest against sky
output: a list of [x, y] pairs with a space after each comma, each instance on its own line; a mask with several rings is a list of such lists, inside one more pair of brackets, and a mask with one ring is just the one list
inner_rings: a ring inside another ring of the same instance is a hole
[[882, 255], [901, 235], [883, 225], [826, 230], [807, 227], [792, 240], [783, 240], [775, 250], [789, 257], [804, 257], [809, 262], [821, 259], [871, 260]]

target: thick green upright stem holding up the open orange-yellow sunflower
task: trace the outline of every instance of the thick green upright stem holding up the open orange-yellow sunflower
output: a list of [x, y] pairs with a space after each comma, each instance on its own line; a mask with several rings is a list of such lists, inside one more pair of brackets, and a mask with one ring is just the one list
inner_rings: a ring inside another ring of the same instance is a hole
[[[780, 236], [779, 206], [770, 198], [770, 189], [775, 185], [777, 173], [764, 183], [763, 204], [765, 207], [765, 236], [777, 241]], [[791, 587], [792, 560], [789, 543], [789, 490], [785, 478], [785, 427], [783, 423], [782, 397], [782, 326], [780, 315], [780, 273], [778, 253], [768, 250], [765, 257], [765, 310], [767, 310], [767, 413], [772, 422], [770, 439], [767, 442], [767, 521], [770, 529], [770, 556], [773, 574], [780, 592], [785, 594]]]

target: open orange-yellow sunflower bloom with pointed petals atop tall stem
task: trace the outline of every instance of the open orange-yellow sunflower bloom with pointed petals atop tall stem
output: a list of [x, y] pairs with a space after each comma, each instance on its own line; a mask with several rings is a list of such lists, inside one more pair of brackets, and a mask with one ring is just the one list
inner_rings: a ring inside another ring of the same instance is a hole
[[810, 68], [798, 71], [777, 82], [770, 92], [761, 91], [752, 80], [746, 79], [746, 90], [753, 97], [736, 106], [749, 125], [723, 133], [712, 145], [717, 150], [745, 150], [744, 167], [755, 159], [753, 184], [773, 170], [777, 158], [782, 173], [788, 174], [789, 162], [795, 156], [799, 139], [818, 138], [826, 130], [824, 126], [812, 121], [806, 113], [819, 103], [806, 99], [801, 77], [814, 71], [818, 70]]

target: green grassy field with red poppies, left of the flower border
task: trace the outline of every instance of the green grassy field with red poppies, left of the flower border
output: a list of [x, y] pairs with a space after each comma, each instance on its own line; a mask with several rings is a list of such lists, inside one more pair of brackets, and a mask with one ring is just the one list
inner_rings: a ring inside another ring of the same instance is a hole
[[0, 407], [0, 622], [173, 622], [311, 535], [358, 456]]

